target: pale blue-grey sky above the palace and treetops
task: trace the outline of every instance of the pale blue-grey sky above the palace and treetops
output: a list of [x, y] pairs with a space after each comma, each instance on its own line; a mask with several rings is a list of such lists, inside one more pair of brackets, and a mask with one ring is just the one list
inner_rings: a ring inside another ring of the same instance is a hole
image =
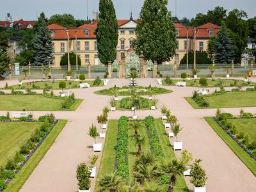
[[[132, 3], [130, 2], [132, 1]], [[256, 16], [255, 0], [169, 0], [168, 10], [175, 16], [175, 1], [177, 1], [177, 17], [191, 19], [196, 13], [207, 13], [216, 6], [223, 6], [228, 11], [238, 8], [248, 13], [248, 18]], [[118, 19], [129, 19], [132, 4], [134, 19], [140, 16], [143, 0], [113, 0]], [[44, 12], [47, 17], [54, 14], [71, 13], [76, 19], [86, 19], [88, 14], [92, 18], [92, 12], [99, 10], [99, 0], [0, 0], [0, 20], [4, 20], [10, 13], [13, 20], [36, 20], [36, 15]]]

